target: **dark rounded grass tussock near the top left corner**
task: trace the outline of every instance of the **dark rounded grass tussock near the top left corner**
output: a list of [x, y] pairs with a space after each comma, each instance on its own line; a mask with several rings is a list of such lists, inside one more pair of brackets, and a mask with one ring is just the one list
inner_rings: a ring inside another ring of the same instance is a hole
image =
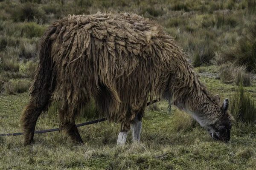
[[43, 9], [34, 6], [32, 3], [25, 3], [12, 11], [12, 19], [14, 22], [26, 21], [43, 24], [47, 21], [47, 16]]

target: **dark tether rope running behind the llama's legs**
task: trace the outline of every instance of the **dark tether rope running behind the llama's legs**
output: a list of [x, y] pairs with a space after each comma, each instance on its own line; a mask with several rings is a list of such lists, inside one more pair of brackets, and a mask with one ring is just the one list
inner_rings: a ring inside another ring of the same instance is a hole
[[[149, 106], [151, 104], [154, 104], [156, 102], [159, 102], [159, 101], [160, 101], [160, 98], [154, 99], [152, 101], [152, 103], [148, 102], [147, 106]], [[85, 125], [91, 125], [91, 124], [94, 124], [94, 123], [103, 122], [105, 120], [107, 120], [106, 117], [102, 118], [102, 119], [98, 119], [98, 120], [93, 120], [93, 121], [90, 121], [90, 122], [81, 123], [81, 124], [76, 125], [76, 127], [85, 126]], [[35, 131], [35, 133], [46, 133], [46, 132], [54, 132], [54, 131], [59, 131], [59, 130], [60, 130], [60, 128], [48, 129], [48, 130], [38, 130], [38, 131]], [[23, 133], [5, 133], [5, 134], [0, 134], [0, 136], [18, 136], [18, 135], [23, 135]]]

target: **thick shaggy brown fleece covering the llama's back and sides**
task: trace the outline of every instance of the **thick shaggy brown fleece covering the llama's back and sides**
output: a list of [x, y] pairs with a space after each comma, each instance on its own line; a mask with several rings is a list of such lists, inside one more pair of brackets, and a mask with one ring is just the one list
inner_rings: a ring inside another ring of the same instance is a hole
[[135, 14], [70, 15], [52, 27], [53, 99], [82, 107], [94, 97], [116, 122], [133, 119], [128, 108], [145, 107], [149, 93], [162, 96], [172, 75], [188, 67], [172, 38]]

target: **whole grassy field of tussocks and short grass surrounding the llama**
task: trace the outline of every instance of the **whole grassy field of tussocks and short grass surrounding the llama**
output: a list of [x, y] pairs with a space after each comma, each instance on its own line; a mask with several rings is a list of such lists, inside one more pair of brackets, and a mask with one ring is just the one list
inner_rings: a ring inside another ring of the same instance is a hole
[[[208, 90], [230, 99], [236, 118], [231, 142], [214, 141], [190, 115], [169, 111], [160, 101], [146, 111], [141, 143], [132, 143], [129, 133], [127, 144], [117, 146], [120, 125], [108, 122], [79, 127], [82, 146], [59, 132], [35, 134], [35, 144], [27, 147], [22, 136], [0, 137], [0, 170], [256, 169], [255, 0], [0, 0], [0, 133], [21, 131], [20, 113], [29, 101], [37, 44], [46, 28], [67, 14], [97, 11], [157, 20]], [[57, 105], [40, 116], [36, 130], [59, 126]], [[86, 116], [91, 108], [77, 123], [97, 119]]]

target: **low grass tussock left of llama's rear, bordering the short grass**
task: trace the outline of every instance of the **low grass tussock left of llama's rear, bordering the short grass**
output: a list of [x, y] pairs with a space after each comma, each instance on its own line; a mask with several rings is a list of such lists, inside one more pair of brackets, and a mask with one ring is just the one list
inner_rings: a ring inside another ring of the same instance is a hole
[[31, 82], [27, 79], [10, 80], [5, 84], [6, 94], [19, 94], [29, 90]]

